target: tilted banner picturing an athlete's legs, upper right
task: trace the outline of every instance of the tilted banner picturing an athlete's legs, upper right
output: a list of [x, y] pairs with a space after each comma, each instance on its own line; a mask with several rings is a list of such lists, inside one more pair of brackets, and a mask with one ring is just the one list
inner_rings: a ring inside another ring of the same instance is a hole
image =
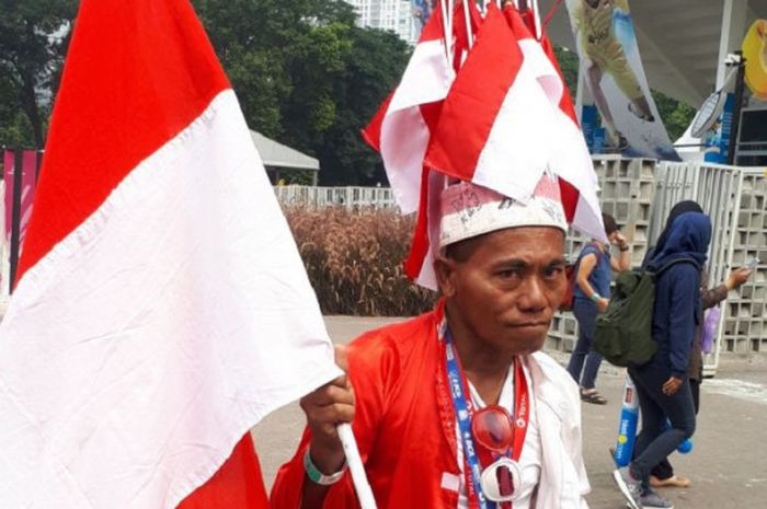
[[568, 0], [581, 72], [605, 128], [603, 152], [678, 161], [650, 94], [628, 0]]

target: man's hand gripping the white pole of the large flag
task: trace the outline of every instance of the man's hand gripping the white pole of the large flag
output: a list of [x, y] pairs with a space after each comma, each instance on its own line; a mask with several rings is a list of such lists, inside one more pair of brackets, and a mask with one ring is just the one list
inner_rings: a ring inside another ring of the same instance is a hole
[[[346, 347], [335, 346], [335, 363], [347, 371]], [[354, 419], [354, 391], [348, 377], [339, 377], [307, 394], [300, 405], [311, 429], [311, 461], [323, 474], [331, 475], [344, 464], [344, 450], [335, 426]]]

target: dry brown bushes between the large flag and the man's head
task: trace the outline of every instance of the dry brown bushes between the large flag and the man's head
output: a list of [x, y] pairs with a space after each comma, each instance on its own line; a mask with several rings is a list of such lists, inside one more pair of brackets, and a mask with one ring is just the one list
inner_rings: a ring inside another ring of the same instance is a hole
[[286, 208], [309, 280], [324, 314], [412, 316], [436, 293], [404, 276], [414, 220], [392, 210]]

